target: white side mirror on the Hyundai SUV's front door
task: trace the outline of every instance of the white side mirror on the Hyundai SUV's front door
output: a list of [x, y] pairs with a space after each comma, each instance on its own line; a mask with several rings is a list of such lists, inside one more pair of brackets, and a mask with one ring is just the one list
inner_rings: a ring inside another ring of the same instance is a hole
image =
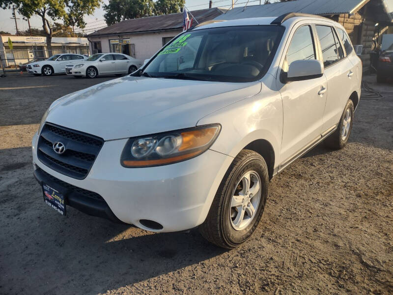
[[286, 81], [303, 81], [323, 76], [323, 63], [316, 59], [292, 61], [289, 65]]

